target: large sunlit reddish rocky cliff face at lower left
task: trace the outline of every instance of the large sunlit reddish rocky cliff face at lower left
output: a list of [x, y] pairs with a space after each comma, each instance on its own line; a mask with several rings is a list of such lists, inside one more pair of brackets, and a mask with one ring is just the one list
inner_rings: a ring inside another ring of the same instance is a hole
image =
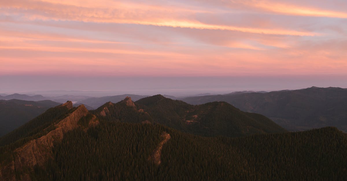
[[[62, 106], [67, 106], [69, 109], [73, 108], [72, 102], [67, 102]], [[43, 166], [49, 158], [52, 158], [54, 144], [59, 143], [66, 132], [77, 128], [79, 126], [78, 120], [87, 114], [86, 107], [80, 105], [74, 112], [55, 124], [56, 129], [17, 148], [13, 154], [13, 161], [1, 165], [0, 180], [30, 180], [29, 175], [25, 174], [24, 170], [32, 169], [36, 165]], [[94, 116], [90, 126], [95, 126], [98, 123], [99, 121]], [[22, 173], [20, 178], [15, 178], [15, 171]]]

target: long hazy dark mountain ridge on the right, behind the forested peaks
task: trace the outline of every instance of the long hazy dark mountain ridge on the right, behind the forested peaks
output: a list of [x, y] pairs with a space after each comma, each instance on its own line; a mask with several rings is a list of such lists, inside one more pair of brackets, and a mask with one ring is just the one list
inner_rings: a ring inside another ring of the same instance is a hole
[[225, 101], [242, 111], [263, 114], [291, 131], [334, 126], [347, 132], [347, 89], [339, 87], [187, 97], [183, 101]]

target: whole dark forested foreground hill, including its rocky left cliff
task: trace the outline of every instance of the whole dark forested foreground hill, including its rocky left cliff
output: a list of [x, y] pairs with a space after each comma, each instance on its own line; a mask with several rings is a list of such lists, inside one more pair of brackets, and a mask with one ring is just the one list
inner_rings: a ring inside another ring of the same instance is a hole
[[[158, 99], [162, 100], [156, 96], [142, 101], [154, 106]], [[117, 109], [103, 106], [100, 114], [94, 115], [95, 111], [89, 112], [83, 105], [73, 107], [67, 102], [11, 132], [6, 138], [11, 138], [10, 143], [0, 139], [0, 180], [347, 177], [347, 136], [336, 128], [238, 138], [201, 137], [152, 124], [153, 120], [143, 122], [150, 114], [136, 110], [139, 103], [129, 99], [107, 104]], [[111, 116], [117, 118], [108, 120]]]

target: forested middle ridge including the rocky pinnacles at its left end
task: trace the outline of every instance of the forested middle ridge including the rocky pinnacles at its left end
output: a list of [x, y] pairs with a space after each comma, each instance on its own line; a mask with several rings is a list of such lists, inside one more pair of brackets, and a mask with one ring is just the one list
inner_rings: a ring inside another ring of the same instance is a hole
[[202, 136], [235, 137], [286, 131], [263, 115], [242, 112], [226, 102], [194, 106], [162, 95], [142, 98], [135, 103], [127, 97], [116, 104], [106, 103], [93, 113], [104, 120], [155, 122]]

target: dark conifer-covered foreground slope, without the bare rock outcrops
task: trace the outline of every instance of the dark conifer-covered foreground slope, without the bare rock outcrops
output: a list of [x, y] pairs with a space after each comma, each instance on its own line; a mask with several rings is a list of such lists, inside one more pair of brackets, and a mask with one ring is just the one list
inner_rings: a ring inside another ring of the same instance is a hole
[[[162, 132], [161, 164], [150, 155]], [[347, 137], [336, 128], [200, 137], [159, 124], [103, 121], [68, 132], [32, 180], [344, 180]]]

